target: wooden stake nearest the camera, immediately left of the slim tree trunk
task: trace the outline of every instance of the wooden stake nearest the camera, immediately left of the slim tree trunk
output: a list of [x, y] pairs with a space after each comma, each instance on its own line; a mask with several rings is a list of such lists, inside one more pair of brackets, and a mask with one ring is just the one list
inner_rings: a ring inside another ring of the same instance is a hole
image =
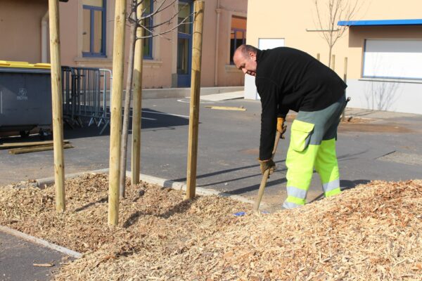
[[116, 0], [113, 40], [113, 90], [110, 105], [110, 173], [108, 186], [108, 224], [112, 226], [117, 226], [117, 223], [119, 223], [120, 134], [122, 133], [122, 91], [125, 23], [126, 0]]

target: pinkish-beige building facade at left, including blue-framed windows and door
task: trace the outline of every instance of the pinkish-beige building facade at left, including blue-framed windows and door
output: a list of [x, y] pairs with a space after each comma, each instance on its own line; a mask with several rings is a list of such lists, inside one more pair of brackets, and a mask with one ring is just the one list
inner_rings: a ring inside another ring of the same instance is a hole
[[[165, 34], [143, 41], [143, 86], [147, 89], [188, 87], [193, 1], [144, 0], [145, 13], [157, 11], [162, 1], [165, 1], [164, 6], [170, 5], [169, 8], [145, 22], [146, 26], [166, 23], [153, 30], [154, 34]], [[62, 65], [112, 68], [114, 5], [112, 0], [60, 3]], [[247, 0], [205, 2], [201, 86], [243, 85], [244, 76], [231, 64], [231, 54], [236, 46], [245, 42], [247, 6]], [[177, 27], [186, 17], [187, 23]], [[1, 0], [0, 32], [0, 60], [49, 63], [47, 0]], [[151, 35], [148, 31], [145, 33]], [[126, 63], [128, 51], [129, 28]]]

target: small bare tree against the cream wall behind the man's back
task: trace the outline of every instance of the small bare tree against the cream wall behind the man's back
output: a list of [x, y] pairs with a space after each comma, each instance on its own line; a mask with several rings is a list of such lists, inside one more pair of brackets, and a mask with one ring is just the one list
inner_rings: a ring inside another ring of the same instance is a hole
[[331, 67], [333, 46], [343, 37], [348, 26], [338, 26], [340, 20], [350, 21], [359, 11], [362, 0], [314, 0], [316, 8], [316, 28], [328, 44], [328, 66]]

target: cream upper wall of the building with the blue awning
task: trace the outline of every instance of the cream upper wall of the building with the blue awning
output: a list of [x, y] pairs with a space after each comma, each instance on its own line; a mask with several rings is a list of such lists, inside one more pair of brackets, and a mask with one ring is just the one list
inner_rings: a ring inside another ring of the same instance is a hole
[[[324, 3], [323, 0], [321, 0]], [[395, 20], [422, 18], [420, 0], [361, 0], [353, 20]], [[271, 8], [269, 8], [271, 7]], [[259, 38], [283, 38], [285, 46], [299, 48], [328, 63], [328, 44], [316, 30], [314, 0], [248, 1], [248, 44], [257, 46]], [[323, 17], [324, 18], [324, 17]], [[365, 38], [422, 38], [422, 27], [352, 27], [333, 48], [335, 70], [343, 77], [344, 59], [348, 58], [347, 77], [358, 79], [362, 72], [362, 46]]]

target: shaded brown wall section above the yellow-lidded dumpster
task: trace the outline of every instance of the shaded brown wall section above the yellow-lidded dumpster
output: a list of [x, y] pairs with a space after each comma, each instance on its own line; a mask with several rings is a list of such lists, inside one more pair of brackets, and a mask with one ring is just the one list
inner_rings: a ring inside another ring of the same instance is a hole
[[0, 1], [0, 60], [41, 62], [41, 19], [47, 0]]

